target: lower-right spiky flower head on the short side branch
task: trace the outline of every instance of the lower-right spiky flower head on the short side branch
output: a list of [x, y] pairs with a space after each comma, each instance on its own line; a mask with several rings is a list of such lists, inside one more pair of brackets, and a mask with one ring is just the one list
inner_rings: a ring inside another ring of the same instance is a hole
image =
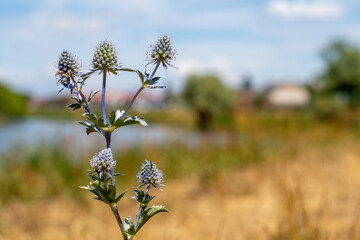
[[138, 187], [146, 185], [149, 187], [150, 185], [160, 189], [158, 186], [163, 186], [162, 182], [164, 182], [163, 172], [157, 169], [155, 163], [146, 160], [142, 165], [140, 172], [136, 175], [138, 178], [138, 183], [140, 185]]

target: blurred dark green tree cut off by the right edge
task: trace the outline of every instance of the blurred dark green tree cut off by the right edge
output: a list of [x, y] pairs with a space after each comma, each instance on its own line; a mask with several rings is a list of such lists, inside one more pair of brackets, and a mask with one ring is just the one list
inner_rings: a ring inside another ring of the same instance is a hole
[[322, 57], [326, 68], [320, 82], [326, 93], [347, 99], [349, 106], [360, 102], [360, 51], [345, 41], [327, 46]]

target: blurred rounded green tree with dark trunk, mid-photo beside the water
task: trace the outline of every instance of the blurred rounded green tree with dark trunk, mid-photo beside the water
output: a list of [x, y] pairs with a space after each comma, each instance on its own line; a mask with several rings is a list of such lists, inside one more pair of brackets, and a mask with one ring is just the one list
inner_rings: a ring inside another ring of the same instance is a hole
[[190, 76], [183, 97], [188, 106], [195, 110], [201, 130], [207, 130], [214, 119], [224, 120], [231, 115], [233, 93], [217, 76]]

